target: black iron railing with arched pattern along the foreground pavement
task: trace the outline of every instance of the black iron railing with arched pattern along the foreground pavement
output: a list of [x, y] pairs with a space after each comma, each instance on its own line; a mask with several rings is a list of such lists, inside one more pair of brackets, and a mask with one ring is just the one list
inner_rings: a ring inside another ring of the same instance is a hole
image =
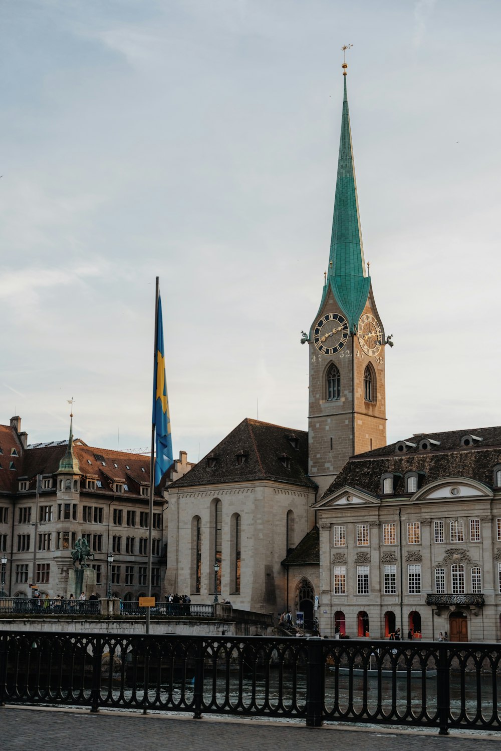
[[0, 632], [0, 704], [501, 730], [501, 645]]

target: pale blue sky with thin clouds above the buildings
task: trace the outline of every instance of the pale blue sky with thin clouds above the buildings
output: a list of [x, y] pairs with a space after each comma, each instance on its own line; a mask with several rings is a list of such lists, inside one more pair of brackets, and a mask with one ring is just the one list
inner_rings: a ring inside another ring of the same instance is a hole
[[388, 442], [501, 422], [498, 0], [0, 3], [0, 423], [174, 456], [307, 428], [343, 44]]

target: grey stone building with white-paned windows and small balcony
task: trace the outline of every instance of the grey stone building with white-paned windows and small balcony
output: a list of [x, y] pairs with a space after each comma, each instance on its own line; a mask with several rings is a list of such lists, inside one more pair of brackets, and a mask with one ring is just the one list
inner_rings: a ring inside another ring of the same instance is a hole
[[461, 447], [458, 433], [429, 436], [433, 451], [414, 437], [405, 456], [399, 442], [353, 457], [315, 505], [322, 632], [343, 621], [352, 637], [400, 626], [404, 636], [499, 641], [501, 429], [475, 430], [482, 448]]

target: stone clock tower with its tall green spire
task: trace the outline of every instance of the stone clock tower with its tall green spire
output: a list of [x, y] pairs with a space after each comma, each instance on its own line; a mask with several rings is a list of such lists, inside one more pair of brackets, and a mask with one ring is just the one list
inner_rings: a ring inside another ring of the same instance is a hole
[[385, 332], [364, 261], [347, 67], [329, 265], [307, 339], [309, 475], [320, 493], [353, 454], [386, 444]]

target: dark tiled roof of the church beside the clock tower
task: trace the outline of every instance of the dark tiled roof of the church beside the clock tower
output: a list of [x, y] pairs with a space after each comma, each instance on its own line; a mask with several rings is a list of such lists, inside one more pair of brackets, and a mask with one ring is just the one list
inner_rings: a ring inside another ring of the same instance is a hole
[[[294, 442], [297, 442], [297, 448], [294, 448]], [[240, 464], [237, 460], [239, 454], [245, 457]], [[289, 463], [289, 468], [283, 462]], [[250, 480], [275, 480], [316, 487], [308, 477], [308, 433], [246, 418], [193, 469], [169, 487]]]

